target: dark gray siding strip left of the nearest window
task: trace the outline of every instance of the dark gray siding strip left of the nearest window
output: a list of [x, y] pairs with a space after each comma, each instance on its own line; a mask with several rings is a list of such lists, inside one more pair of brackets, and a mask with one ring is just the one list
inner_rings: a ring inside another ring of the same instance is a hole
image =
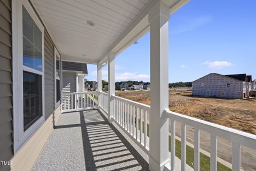
[[[0, 0], [0, 161], [14, 155], [11, 39], [11, 1]], [[0, 170], [10, 170], [10, 166], [0, 165]]]

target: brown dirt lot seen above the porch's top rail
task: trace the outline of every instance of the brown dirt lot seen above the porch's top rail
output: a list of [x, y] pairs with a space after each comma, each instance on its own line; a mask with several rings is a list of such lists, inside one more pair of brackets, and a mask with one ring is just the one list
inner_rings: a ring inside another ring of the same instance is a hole
[[[122, 91], [117, 96], [150, 104], [150, 91]], [[184, 115], [256, 135], [256, 100], [193, 97], [186, 90], [169, 91], [169, 109]]]

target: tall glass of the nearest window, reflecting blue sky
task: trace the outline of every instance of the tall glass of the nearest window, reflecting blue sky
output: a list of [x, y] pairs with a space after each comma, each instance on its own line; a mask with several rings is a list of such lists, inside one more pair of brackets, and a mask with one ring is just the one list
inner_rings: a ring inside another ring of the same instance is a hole
[[42, 31], [22, 6], [23, 39], [23, 131], [43, 115]]

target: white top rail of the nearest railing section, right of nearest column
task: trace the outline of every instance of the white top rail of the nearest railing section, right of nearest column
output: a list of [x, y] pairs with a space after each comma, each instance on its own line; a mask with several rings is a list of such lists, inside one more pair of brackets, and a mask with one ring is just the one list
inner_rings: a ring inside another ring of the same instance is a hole
[[165, 110], [166, 117], [256, 150], [256, 135]]

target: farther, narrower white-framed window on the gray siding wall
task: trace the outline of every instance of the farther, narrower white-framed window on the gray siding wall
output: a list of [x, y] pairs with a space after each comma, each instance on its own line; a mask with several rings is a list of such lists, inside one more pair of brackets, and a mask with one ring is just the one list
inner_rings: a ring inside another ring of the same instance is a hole
[[54, 48], [55, 59], [55, 109], [60, 105], [60, 55]]

